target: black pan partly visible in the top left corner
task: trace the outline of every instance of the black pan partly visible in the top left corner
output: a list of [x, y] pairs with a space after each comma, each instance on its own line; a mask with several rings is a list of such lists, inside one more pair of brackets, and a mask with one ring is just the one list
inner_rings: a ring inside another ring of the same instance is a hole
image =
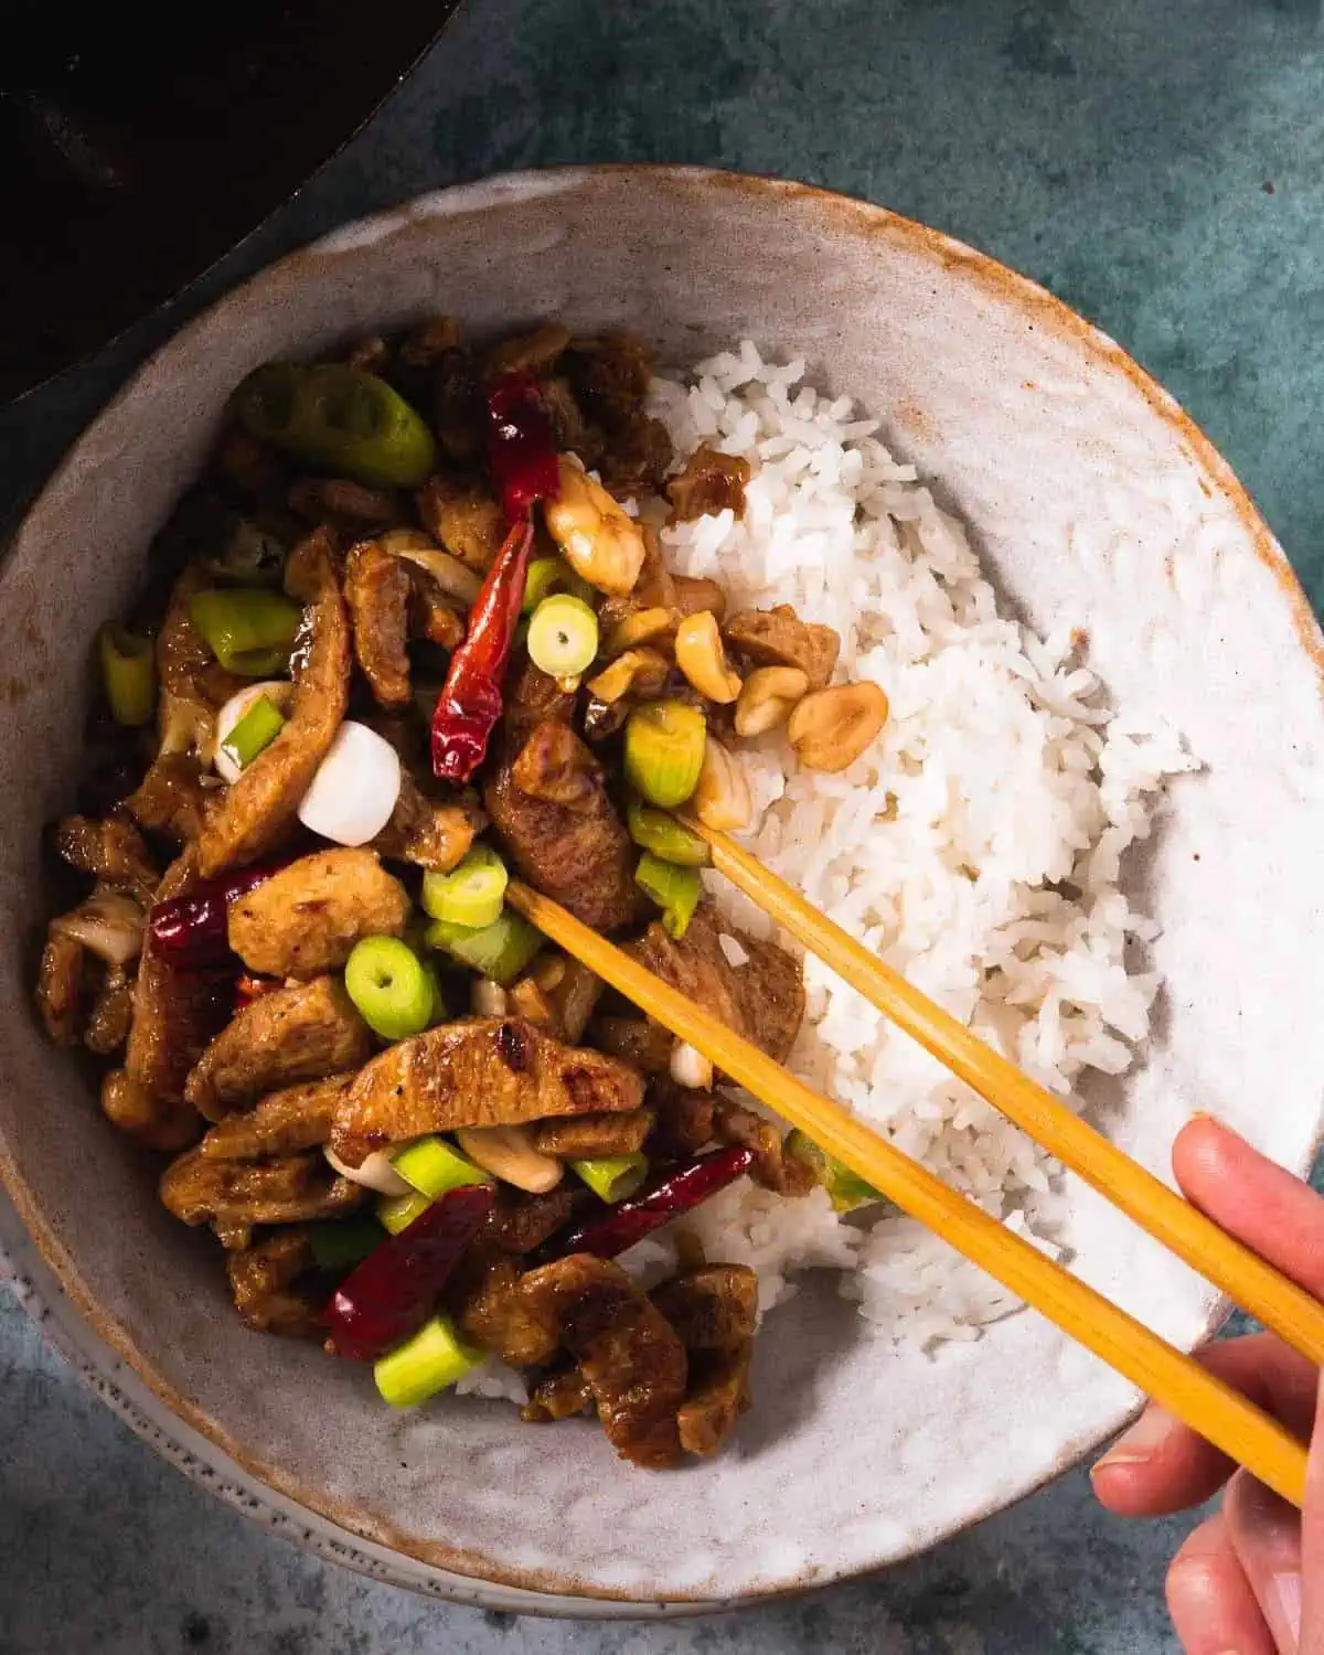
[[7, 0], [0, 402], [109, 343], [295, 194], [460, 0]]

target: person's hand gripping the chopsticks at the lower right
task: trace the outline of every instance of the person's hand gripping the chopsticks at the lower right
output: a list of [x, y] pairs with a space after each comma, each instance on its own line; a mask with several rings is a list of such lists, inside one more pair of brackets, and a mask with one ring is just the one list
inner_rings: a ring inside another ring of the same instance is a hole
[[[1324, 1200], [1208, 1115], [1177, 1137], [1187, 1198], [1230, 1235], [1324, 1299]], [[1187, 1655], [1324, 1655], [1324, 1423], [1319, 1372], [1274, 1334], [1210, 1346], [1200, 1362], [1311, 1442], [1304, 1513], [1150, 1403], [1094, 1466], [1094, 1493], [1124, 1518], [1220, 1511], [1168, 1566], [1167, 1597]]]

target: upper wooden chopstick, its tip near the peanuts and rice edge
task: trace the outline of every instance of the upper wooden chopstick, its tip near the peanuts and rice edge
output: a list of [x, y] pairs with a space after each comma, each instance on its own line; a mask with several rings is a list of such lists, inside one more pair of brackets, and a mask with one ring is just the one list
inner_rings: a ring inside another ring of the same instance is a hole
[[978, 1034], [971, 1034], [963, 1023], [778, 879], [758, 857], [727, 834], [713, 832], [688, 816], [685, 826], [707, 839], [713, 866], [733, 885], [980, 1097], [1008, 1120], [1015, 1120], [1036, 1144], [1079, 1173], [1168, 1251], [1221, 1288], [1243, 1311], [1256, 1316], [1316, 1367], [1324, 1365], [1324, 1304], [1220, 1230], [1102, 1132], [1072, 1114], [1053, 1092], [1031, 1081]]

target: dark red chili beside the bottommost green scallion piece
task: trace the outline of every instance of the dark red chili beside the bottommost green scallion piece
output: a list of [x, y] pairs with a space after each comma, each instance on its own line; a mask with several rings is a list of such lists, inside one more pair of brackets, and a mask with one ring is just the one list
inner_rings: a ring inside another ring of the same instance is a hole
[[331, 1355], [376, 1362], [417, 1332], [487, 1223], [493, 1200], [490, 1183], [447, 1190], [412, 1225], [372, 1248], [323, 1312]]

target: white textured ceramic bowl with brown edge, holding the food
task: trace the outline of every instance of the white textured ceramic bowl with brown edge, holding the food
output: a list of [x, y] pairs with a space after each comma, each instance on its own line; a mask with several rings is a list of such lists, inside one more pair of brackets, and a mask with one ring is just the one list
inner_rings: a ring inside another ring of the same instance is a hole
[[[260, 1521], [405, 1585], [505, 1609], [684, 1612], [907, 1557], [1071, 1465], [1132, 1390], [1031, 1314], [935, 1357], [861, 1337], [826, 1281], [758, 1344], [753, 1412], [713, 1463], [645, 1475], [588, 1423], [505, 1405], [399, 1417], [366, 1374], [245, 1331], [210, 1238], [152, 1193], [81, 1069], [30, 1011], [41, 824], [68, 806], [93, 629], [253, 366], [452, 311], [629, 328], [670, 364], [751, 336], [882, 415], [973, 525], [1010, 602], [1089, 634], [1139, 717], [1205, 770], [1130, 867], [1167, 981], [1142, 1064], [1101, 1104], [1160, 1173], [1195, 1109], [1304, 1170], [1324, 1023], [1319, 631], [1208, 442], [1041, 290], [892, 213], [710, 172], [525, 174], [425, 197], [265, 271], [161, 351], [91, 425], [0, 576], [0, 1213], [12, 1268], [79, 1369], [190, 1475]], [[40, 761], [35, 756], [40, 755]], [[22, 1218], [22, 1223], [20, 1223]], [[1183, 1346], [1215, 1294], [1086, 1192], [1079, 1269]]]

